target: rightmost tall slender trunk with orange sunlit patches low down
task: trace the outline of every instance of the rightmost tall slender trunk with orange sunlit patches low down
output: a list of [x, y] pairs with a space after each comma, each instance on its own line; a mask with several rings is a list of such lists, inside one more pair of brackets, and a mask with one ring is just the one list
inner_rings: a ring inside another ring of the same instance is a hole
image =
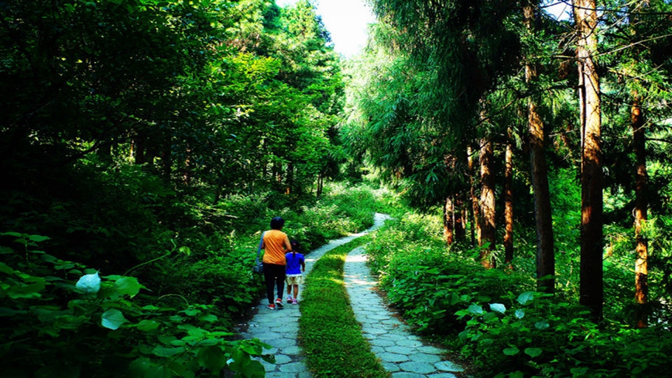
[[635, 150], [635, 301], [638, 303], [637, 328], [645, 328], [648, 317], [645, 304], [648, 302], [648, 241], [642, 235], [642, 229], [647, 221], [647, 182], [648, 172], [646, 169], [646, 136], [644, 132], [644, 113], [639, 106], [637, 95], [631, 109], [631, 125], [633, 132], [633, 145]]

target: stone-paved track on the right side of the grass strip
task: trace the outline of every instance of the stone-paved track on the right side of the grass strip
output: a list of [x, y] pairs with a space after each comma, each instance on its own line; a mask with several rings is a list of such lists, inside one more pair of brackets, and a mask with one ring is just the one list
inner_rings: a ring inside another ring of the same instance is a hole
[[363, 247], [348, 253], [344, 281], [363, 335], [372, 344], [372, 351], [385, 370], [392, 378], [455, 378], [451, 372], [463, 369], [442, 360], [441, 355], [446, 351], [423, 344], [420, 337], [409, 332], [409, 327], [388, 310], [374, 291], [377, 281], [372, 278], [366, 260]]

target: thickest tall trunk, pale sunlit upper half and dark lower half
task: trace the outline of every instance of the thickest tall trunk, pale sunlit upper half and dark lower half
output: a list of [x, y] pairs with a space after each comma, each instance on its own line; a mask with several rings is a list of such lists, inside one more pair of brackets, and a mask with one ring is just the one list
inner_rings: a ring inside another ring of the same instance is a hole
[[595, 0], [573, 0], [581, 109], [581, 271], [579, 302], [600, 321], [603, 302], [600, 80]]

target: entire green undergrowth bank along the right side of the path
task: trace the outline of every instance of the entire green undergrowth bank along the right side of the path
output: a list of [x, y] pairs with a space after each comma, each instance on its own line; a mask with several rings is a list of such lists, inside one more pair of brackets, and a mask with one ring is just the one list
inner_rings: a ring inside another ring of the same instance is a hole
[[[514, 270], [484, 270], [477, 248], [447, 248], [440, 218], [396, 214], [367, 246], [389, 302], [419, 332], [449, 346], [479, 377], [661, 377], [672, 362], [672, 333], [660, 320], [635, 329], [623, 256], [605, 264], [605, 320], [590, 320], [571, 282], [578, 272], [559, 255], [554, 296], [535, 291], [531, 253]], [[624, 273], [625, 272], [625, 273]], [[568, 283], [570, 282], [570, 283]], [[628, 295], [619, 295], [625, 293]], [[653, 320], [653, 319], [652, 319]]]

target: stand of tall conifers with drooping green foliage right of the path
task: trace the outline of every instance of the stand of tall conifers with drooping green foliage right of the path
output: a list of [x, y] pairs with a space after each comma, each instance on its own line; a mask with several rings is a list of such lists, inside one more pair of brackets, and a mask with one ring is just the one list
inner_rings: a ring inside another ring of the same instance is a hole
[[[630, 137], [624, 133], [630, 128], [635, 105], [647, 116], [635, 130], [650, 133], [646, 146], [637, 150], [644, 156], [638, 158], [643, 167], [638, 172], [646, 167], [643, 161], [666, 161], [657, 153], [667, 150], [661, 143], [668, 140], [666, 127], [661, 126], [667, 125], [664, 120], [670, 115], [671, 67], [664, 57], [670, 51], [672, 30], [666, 18], [669, 4], [575, 2], [567, 8], [572, 18], [550, 15], [549, 4], [372, 1], [379, 25], [358, 63], [358, 70], [366, 73], [358, 76], [360, 92], [349, 104], [349, 114], [357, 117], [351, 118], [342, 132], [344, 139], [351, 141], [352, 151], [365, 154], [369, 162], [384, 169], [405, 189], [412, 203], [423, 209], [441, 207], [448, 214], [451, 198], [468, 190], [469, 179], [477, 182], [464, 158], [468, 147], [473, 154], [493, 143], [494, 191], [504, 190], [499, 189], [505, 172], [500, 161], [505, 160], [507, 130], [512, 130], [513, 186], [526, 186], [531, 192], [530, 197], [523, 197], [529, 202], [513, 203], [523, 214], [535, 214], [538, 287], [551, 293], [559, 273], [554, 267], [558, 231], [552, 218], [557, 211], [552, 206], [556, 193], [549, 190], [548, 176], [565, 167], [581, 169], [577, 177], [584, 193], [583, 236], [575, 240], [584, 251], [580, 298], [600, 318], [603, 190], [629, 191], [648, 185], [641, 179], [643, 174], [637, 174], [636, 185], [635, 174], [619, 168], [625, 167], [619, 162], [634, 164], [626, 156], [633, 148], [625, 142]], [[530, 157], [528, 162], [519, 158], [525, 153]], [[661, 185], [666, 185], [663, 182], [667, 180], [661, 180]], [[483, 214], [493, 207], [484, 202], [491, 198], [486, 195], [490, 189], [480, 190], [484, 192], [481, 200], [474, 202], [477, 206], [471, 223], [484, 235], [489, 234], [483, 229], [484, 217], [498, 217]], [[472, 199], [480, 190], [472, 193]], [[645, 189], [641, 190], [639, 193], [644, 193]], [[514, 190], [514, 195], [520, 196], [521, 191]], [[638, 214], [644, 214], [646, 207], [640, 202]], [[507, 208], [507, 214], [510, 210]], [[608, 211], [612, 217], [617, 209], [610, 207]], [[665, 213], [661, 209], [661, 214]], [[445, 223], [451, 217], [444, 218]], [[520, 221], [526, 220], [517, 218]], [[641, 224], [642, 216], [636, 222]], [[451, 226], [446, 227], [449, 230]], [[643, 261], [647, 260], [641, 252], [642, 232], [646, 231], [636, 231], [640, 235], [640, 262], [636, 266], [642, 270], [638, 298], [645, 290], [640, 286], [644, 282]], [[510, 254], [507, 256], [506, 260]]]

